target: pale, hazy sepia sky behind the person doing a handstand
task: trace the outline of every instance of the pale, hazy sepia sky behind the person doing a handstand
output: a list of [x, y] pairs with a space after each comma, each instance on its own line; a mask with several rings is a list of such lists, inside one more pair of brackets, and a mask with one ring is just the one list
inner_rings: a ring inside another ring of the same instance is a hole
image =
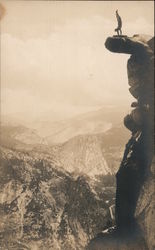
[[[129, 56], [105, 49], [117, 26], [153, 35], [153, 1], [0, 1], [2, 113], [64, 118], [124, 105]], [[129, 108], [130, 109], [130, 108]]]

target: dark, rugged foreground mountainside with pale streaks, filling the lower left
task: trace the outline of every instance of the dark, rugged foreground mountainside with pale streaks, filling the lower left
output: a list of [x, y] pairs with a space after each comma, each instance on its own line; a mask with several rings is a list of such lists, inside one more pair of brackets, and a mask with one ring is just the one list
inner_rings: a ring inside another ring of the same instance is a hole
[[111, 220], [114, 193], [103, 180], [90, 187], [30, 152], [1, 147], [0, 158], [1, 249], [84, 249]]

